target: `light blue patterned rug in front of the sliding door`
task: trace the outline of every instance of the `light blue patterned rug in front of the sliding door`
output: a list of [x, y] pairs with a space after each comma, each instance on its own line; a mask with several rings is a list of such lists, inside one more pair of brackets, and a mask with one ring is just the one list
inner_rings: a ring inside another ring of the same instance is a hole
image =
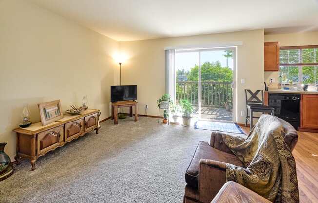
[[194, 129], [245, 134], [239, 125], [230, 122], [197, 121]]

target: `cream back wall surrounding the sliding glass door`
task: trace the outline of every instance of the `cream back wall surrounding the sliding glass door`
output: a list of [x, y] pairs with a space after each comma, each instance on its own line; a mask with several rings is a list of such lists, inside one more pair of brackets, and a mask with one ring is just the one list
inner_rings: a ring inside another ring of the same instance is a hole
[[[139, 114], [158, 115], [156, 100], [165, 93], [164, 47], [230, 43], [242, 41], [238, 46], [238, 114], [237, 122], [245, 122], [244, 89], [262, 89], [264, 82], [264, 30], [222, 34], [197, 35], [141, 41], [119, 42], [120, 51], [129, 58], [122, 66], [122, 84], [136, 84]], [[241, 84], [242, 78], [246, 79]]]

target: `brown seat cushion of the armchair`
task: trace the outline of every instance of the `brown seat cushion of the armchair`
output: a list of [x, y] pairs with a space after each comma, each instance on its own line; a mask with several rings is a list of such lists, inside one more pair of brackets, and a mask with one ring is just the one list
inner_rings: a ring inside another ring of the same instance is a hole
[[198, 188], [199, 185], [200, 159], [209, 159], [242, 166], [242, 162], [235, 155], [215, 149], [211, 147], [208, 142], [200, 141], [185, 173], [185, 182], [193, 188]]

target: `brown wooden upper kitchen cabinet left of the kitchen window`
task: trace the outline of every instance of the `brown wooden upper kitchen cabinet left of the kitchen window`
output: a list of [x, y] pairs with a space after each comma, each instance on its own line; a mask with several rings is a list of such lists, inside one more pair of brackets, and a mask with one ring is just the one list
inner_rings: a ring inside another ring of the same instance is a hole
[[264, 43], [265, 71], [279, 71], [279, 42]]

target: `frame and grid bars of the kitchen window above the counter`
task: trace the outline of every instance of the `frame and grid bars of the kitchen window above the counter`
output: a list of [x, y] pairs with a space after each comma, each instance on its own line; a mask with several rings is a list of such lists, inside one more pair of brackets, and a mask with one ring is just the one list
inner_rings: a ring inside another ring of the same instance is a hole
[[[303, 74], [302, 74], [302, 69], [304, 66], [313, 66], [314, 67], [314, 81], [315, 83], [310, 83], [310, 84], [313, 84], [313, 85], [317, 85], [318, 82], [317, 82], [317, 78], [316, 76], [318, 76], [318, 73], [317, 73], [317, 68], [318, 67], [318, 62], [316, 63], [303, 63], [302, 62], [302, 51], [303, 49], [317, 49], [316, 52], [315, 52], [315, 56], [314, 56], [314, 59], [316, 61], [318, 61], [318, 55], [317, 55], [317, 52], [318, 52], [318, 45], [308, 45], [308, 46], [282, 46], [280, 47], [280, 50], [296, 50], [296, 49], [299, 49], [300, 53], [299, 53], [299, 58], [301, 59], [301, 63], [280, 63], [279, 61], [279, 72], [280, 72], [280, 67], [281, 66], [285, 66], [285, 67], [288, 67], [288, 66], [298, 66], [298, 77], [299, 77], [299, 82], [294, 82], [295, 84], [301, 84], [303, 83]], [[280, 50], [279, 50], [279, 58], [280, 58]], [[300, 61], [299, 59], [299, 61]], [[279, 76], [280, 77], [280, 76]], [[288, 84], [289, 82], [285, 82], [285, 83], [282, 83], [282, 82], [279, 82], [280, 84]]]

